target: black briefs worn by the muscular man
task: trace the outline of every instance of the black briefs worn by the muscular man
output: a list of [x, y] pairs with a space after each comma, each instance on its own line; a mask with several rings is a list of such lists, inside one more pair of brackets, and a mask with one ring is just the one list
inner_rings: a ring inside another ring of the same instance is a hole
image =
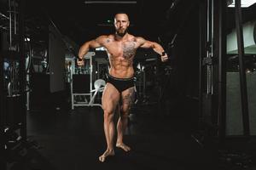
[[107, 74], [107, 82], [111, 83], [119, 93], [122, 93], [128, 88], [134, 87], [134, 77], [131, 78], [117, 78]]

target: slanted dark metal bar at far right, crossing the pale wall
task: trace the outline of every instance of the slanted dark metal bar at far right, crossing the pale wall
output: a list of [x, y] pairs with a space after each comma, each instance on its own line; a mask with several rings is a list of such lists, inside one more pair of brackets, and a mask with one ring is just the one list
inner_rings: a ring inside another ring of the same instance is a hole
[[243, 134], [246, 137], [250, 135], [248, 101], [247, 101], [247, 77], [244, 68], [244, 43], [243, 32], [241, 25], [241, 0], [235, 1], [236, 11], [236, 37], [239, 58], [239, 73], [240, 73], [240, 89], [241, 89], [241, 114], [243, 124]]

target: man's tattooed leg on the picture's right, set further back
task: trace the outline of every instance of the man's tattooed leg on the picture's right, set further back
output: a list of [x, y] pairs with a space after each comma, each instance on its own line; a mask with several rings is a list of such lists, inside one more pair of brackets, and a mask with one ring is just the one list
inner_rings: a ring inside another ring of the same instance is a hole
[[117, 142], [116, 146], [125, 150], [129, 151], [131, 148], [124, 144], [123, 137], [125, 133], [125, 129], [128, 124], [128, 116], [129, 111], [131, 109], [131, 105], [134, 102], [134, 94], [135, 94], [135, 88], [128, 88], [124, 92], [122, 92], [121, 98], [122, 98], [122, 105], [120, 106], [120, 116], [117, 123]]

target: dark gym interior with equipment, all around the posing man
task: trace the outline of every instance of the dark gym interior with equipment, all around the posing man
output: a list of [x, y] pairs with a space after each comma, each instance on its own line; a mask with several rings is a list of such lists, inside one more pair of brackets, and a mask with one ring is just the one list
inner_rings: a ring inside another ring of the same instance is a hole
[[[0, 169], [256, 169], [255, 3], [0, 0]], [[168, 60], [137, 49], [131, 150], [101, 162], [108, 53], [77, 59], [118, 12]]]

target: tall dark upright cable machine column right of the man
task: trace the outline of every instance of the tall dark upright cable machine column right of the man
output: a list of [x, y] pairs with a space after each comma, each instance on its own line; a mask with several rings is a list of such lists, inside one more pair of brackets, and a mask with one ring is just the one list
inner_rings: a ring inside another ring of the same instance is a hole
[[[207, 2], [201, 2], [199, 16], [201, 29], [199, 118], [200, 122], [217, 130], [215, 135], [221, 143], [225, 138], [226, 114], [225, 10], [225, 1], [207, 0]], [[214, 85], [215, 82], [218, 84]], [[216, 99], [218, 103], [214, 102]], [[203, 107], [205, 107], [204, 110]]]

